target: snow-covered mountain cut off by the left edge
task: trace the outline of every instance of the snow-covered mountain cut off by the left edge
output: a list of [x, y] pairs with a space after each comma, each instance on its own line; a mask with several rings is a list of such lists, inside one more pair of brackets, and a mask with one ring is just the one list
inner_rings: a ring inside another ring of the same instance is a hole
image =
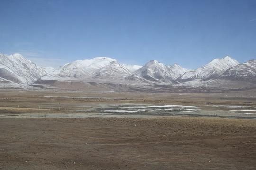
[[46, 74], [46, 71], [25, 59], [20, 54], [4, 55], [0, 53], [1, 82], [31, 84]]

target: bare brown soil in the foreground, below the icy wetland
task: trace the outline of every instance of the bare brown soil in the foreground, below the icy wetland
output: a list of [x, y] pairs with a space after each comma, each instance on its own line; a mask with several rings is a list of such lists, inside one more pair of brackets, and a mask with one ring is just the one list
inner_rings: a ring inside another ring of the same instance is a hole
[[4, 170], [255, 170], [248, 119], [0, 119]]

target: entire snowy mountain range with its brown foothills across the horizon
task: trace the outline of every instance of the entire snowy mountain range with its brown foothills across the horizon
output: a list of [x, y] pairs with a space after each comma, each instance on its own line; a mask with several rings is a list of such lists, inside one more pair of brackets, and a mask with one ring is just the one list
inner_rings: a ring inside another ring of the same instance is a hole
[[[195, 70], [151, 60], [144, 66], [96, 57], [76, 60], [58, 68], [42, 68], [20, 54], [0, 53], [0, 87], [40, 87], [76, 90], [116, 90], [166, 87], [223, 89], [256, 87], [256, 60], [238, 63], [224, 57]], [[146, 90], [145, 90], [146, 91]]]

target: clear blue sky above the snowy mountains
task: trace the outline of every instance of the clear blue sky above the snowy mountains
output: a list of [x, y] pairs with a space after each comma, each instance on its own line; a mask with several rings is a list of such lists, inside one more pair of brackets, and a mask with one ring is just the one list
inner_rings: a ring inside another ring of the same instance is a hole
[[256, 0], [0, 0], [0, 24], [1, 53], [44, 67], [256, 59]]

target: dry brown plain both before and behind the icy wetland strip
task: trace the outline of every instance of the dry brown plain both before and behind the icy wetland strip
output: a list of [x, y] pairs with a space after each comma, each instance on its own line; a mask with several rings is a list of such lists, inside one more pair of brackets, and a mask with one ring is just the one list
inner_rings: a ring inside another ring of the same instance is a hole
[[[81, 104], [90, 110], [113, 102], [255, 107], [254, 94], [0, 91], [0, 115], [62, 113]], [[255, 170], [255, 148], [255, 119], [0, 118], [2, 170]]]

